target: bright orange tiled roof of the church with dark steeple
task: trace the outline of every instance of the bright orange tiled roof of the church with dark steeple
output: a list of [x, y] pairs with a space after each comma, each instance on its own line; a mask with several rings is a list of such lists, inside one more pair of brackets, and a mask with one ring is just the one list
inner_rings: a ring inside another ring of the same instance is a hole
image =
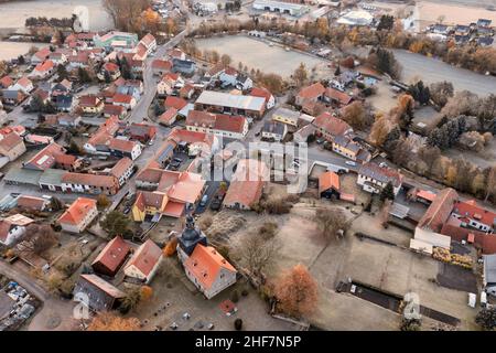
[[209, 289], [215, 284], [220, 269], [236, 272], [233, 265], [214, 247], [203, 246], [202, 244], [195, 246], [193, 254], [184, 263], [184, 267], [202, 284], [204, 289]]

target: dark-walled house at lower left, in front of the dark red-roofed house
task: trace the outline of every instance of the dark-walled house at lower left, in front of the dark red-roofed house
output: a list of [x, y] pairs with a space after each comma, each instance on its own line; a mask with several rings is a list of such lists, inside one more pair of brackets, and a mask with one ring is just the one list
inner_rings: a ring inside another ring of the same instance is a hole
[[80, 275], [73, 291], [74, 298], [87, 298], [89, 309], [100, 312], [117, 309], [126, 293], [97, 275]]

